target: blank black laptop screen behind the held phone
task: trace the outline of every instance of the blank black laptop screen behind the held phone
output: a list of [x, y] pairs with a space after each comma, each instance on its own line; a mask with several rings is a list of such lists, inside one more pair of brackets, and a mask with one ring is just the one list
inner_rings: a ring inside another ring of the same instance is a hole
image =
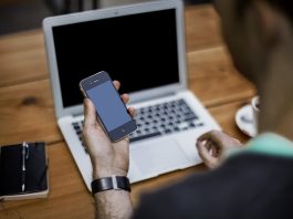
[[179, 82], [176, 10], [53, 28], [63, 106], [79, 105], [82, 79], [106, 71], [121, 93]]

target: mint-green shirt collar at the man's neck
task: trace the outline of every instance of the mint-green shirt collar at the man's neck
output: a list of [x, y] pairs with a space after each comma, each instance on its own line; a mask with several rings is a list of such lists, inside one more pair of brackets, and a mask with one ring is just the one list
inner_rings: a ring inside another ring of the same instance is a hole
[[264, 133], [251, 139], [245, 148], [232, 148], [228, 152], [228, 156], [233, 156], [240, 153], [257, 153], [293, 158], [293, 143], [280, 135]]

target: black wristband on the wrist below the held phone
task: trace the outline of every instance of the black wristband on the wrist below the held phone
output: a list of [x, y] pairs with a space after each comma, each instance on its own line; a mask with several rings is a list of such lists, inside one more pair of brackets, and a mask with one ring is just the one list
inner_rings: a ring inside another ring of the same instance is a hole
[[111, 189], [124, 189], [130, 192], [130, 182], [127, 177], [124, 176], [112, 176], [95, 179], [92, 181], [92, 194], [95, 195], [96, 192], [106, 191]]

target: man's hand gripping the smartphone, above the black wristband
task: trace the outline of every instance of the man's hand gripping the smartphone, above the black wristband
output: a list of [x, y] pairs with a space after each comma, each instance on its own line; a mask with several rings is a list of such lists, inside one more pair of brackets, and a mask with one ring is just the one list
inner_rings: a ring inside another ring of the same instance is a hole
[[[117, 81], [114, 81], [113, 84], [117, 90], [121, 86]], [[123, 94], [121, 97], [124, 103], [129, 101], [127, 94]], [[134, 108], [129, 107], [128, 112], [134, 116]], [[129, 165], [128, 137], [112, 143], [97, 122], [95, 106], [88, 98], [84, 100], [83, 137], [92, 160], [94, 179], [112, 175], [127, 175]]]

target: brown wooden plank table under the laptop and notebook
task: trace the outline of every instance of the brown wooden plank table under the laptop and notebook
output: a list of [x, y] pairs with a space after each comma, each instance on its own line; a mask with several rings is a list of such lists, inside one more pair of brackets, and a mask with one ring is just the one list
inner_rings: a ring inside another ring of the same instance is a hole
[[[223, 46], [211, 6], [186, 8], [189, 86], [223, 131], [248, 140], [234, 124], [237, 109], [255, 94], [239, 75]], [[0, 218], [93, 218], [94, 201], [57, 128], [41, 30], [0, 38], [0, 145], [44, 140], [50, 159], [48, 199], [0, 202]], [[137, 205], [144, 192], [205, 171], [203, 165], [133, 185]]]

